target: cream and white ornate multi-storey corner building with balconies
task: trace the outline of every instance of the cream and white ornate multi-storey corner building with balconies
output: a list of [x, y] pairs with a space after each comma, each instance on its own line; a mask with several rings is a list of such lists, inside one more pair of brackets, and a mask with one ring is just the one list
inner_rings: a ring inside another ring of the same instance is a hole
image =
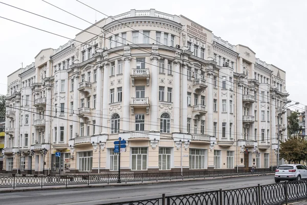
[[119, 137], [126, 172], [271, 168], [285, 79], [182, 15], [102, 19], [8, 77], [4, 169], [115, 172]]

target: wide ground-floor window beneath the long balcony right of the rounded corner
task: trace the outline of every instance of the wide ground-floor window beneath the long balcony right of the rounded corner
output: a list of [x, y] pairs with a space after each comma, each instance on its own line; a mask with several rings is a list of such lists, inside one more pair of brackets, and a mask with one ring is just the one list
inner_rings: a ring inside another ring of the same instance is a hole
[[189, 149], [189, 168], [205, 169], [205, 150]]

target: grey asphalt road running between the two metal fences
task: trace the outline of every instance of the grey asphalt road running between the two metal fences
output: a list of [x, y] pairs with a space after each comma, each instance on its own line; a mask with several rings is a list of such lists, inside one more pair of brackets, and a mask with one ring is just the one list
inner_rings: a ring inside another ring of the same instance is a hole
[[0, 193], [0, 204], [41, 205], [78, 204], [90, 205], [118, 201], [130, 201], [212, 190], [227, 190], [274, 184], [274, 175], [244, 176], [212, 180], [174, 181], [159, 184], [143, 184], [125, 187], [78, 188]]

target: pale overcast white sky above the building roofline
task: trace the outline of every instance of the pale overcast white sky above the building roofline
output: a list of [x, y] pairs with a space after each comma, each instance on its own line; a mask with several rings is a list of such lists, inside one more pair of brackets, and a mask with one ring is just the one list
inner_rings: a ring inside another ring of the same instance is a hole
[[[85, 29], [90, 26], [41, 0], [0, 0], [66, 24]], [[106, 16], [96, 13], [75, 0], [46, 0], [90, 22]], [[156, 9], [184, 15], [211, 30], [231, 44], [251, 48], [256, 57], [286, 71], [289, 99], [307, 104], [307, 1], [305, 0], [224, 0], [224, 1], [104, 1], [81, 0], [106, 15], [115, 16], [130, 9]], [[40, 29], [74, 38], [79, 30], [0, 4], [0, 16]], [[34, 61], [41, 49], [57, 49], [68, 39], [38, 31], [0, 18], [0, 94], [7, 93], [7, 76]]]

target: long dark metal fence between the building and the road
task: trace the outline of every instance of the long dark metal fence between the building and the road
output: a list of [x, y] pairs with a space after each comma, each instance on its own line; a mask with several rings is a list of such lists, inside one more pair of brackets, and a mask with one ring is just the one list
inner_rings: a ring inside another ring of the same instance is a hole
[[[208, 177], [224, 177], [239, 175], [258, 175], [272, 173], [275, 169], [256, 169], [254, 172], [248, 170], [220, 170], [220, 171], [190, 171], [190, 172], [156, 172], [156, 173], [122, 173], [122, 183], [174, 180], [174, 179], [195, 179]], [[17, 187], [47, 187], [71, 185], [94, 185], [117, 183], [118, 174], [84, 174], [84, 175], [58, 175], [58, 176], [3, 176], [0, 177], [0, 188]]]

